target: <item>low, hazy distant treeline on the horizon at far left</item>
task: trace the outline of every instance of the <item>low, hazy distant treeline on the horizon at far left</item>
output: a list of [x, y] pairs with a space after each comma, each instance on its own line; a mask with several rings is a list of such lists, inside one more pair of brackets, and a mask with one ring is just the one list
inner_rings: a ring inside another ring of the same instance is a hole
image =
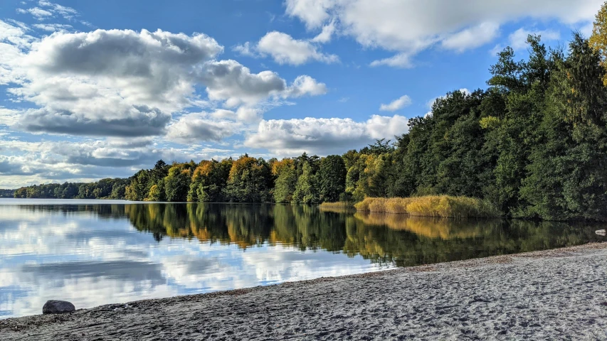
[[47, 183], [13, 190], [12, 197], [43, 199], [124, 199], [130, 179], [101, 179], [95, 183]]

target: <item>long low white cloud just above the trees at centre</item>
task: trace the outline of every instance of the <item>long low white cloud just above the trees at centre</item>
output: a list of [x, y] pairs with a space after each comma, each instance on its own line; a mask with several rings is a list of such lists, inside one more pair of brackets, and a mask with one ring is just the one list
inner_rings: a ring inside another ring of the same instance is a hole
[[357, 122], [352, 119], [272, 119], [263, 120], [244, 143], [250, 148], [267, 148], [280, 156], [294, 156], [304, 151], [327, 155], [343, 153], [374, 139], [393, 138], [408, 131], [408, 119], [399, 115], [374, 115]]

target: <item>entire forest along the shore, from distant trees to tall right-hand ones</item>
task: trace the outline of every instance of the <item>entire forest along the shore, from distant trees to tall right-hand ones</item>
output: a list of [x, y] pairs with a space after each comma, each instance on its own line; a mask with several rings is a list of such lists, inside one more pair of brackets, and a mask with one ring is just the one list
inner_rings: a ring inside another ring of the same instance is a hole
[[15, 197], [315, 204], [445, 194], [489, 200], [509, 217], [604, 220], [606, 21], [603, 8], [593, 36], [574, 33], [566, 50], [539, 36], [527, 39], [527, 60], [505, 48], [486, 90], [437, 99], [394, 143], [323, 158], [159, 161], [127, 180], [31, 186]]

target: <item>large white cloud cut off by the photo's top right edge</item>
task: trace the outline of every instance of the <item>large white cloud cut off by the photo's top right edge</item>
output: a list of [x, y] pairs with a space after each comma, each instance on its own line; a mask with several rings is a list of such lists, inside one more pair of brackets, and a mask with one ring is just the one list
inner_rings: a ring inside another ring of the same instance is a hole
[[500, 26], [531, 17], [574, 25], [593, 20], [601, 0], [286, 0], [286, 13], [308, 29], [331, 22], [369, 48], [393, 50], [393, 58], [372, 65], [407, 67], [411, 56], [440, 44], [462, 52], [489, 43]]

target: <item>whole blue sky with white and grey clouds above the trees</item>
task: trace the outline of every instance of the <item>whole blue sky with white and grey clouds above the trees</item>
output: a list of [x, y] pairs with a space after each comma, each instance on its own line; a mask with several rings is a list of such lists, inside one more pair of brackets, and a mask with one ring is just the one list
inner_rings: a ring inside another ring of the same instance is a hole
[[0, 2], [0, 188], [327, 156], [408, 131], [602, 0]]

